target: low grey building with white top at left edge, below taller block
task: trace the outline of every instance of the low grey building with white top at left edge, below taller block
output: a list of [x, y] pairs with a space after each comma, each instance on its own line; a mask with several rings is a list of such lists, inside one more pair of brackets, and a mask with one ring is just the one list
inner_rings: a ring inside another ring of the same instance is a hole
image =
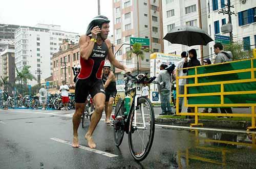
[[15, 67], [14, 65], [14, 45], [8, 44], [6, 48], [1, 52], [0, 58], [2, 61], [0, 64], [2, 68], [0, 69], [0, 76], [8, 76], [8, 81], [11, 83], [15, 82]]

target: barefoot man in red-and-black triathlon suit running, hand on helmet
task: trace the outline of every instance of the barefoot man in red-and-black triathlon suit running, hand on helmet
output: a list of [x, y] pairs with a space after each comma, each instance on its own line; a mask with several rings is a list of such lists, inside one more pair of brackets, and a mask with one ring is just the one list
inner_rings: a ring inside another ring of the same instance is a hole
[[79, 147], [77, 129], [88, 93], [93, 98], [95, 110], [91, 117], [89, 129], [84, 137], [87, 139], [90, 148], [96, 147], [92, 136], [104, 109], [105, 91], [101, 73], [106, 56], [108, 55], [111, 64], [115, 67], [125, 72], [131, 72], [114, 57], [111, 42], [107, 39], [110, 27], [109, 22], [110, 20], [102, 15], [93, 18], [88, 26], [86, 35], [82, 35], [79, 39], [81, 70], [77, 76], [75, 88], [76, 109], [73, 115], [73, 147]]

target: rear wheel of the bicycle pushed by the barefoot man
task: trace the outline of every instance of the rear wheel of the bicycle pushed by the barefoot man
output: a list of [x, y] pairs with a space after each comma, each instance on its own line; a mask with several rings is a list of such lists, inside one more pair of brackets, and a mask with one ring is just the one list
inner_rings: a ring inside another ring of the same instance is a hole
[[[123, 116], [124, 115], [123, 111], [124, 111], [123, 99], [119, 98], [116, 103], [115, 118], [117, 118], [118, 116]], [[114, 123], [115, 123], [115, 120], [114, 120]], [[114, 132], [115, 144], [116, 146], [120, 146], [123, 140], [124, 126], [119, 126], [119, 130], [116, 130], [113, 127], [113, 132]]]

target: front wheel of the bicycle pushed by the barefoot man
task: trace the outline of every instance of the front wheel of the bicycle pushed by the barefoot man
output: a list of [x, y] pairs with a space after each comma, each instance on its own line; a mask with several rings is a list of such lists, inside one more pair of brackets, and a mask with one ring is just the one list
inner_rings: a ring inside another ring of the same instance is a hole
[[[136, 124], [135, 124], [136, 120]], [[132, 111], [129, 122], [129, 147], [137, 161], [146, 158], [153, 144], [155, 116], [151, 101], [146, 97], [138, 98], [138, 109]]]

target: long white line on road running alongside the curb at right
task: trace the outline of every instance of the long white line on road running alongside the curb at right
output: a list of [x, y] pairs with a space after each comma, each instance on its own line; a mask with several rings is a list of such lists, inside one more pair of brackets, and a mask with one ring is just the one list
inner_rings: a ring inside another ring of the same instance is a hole
[[158, 127], [166, 128], [181, 128], [181, 129], [196, 129], [196, 130], [208, 130], [208, 131], [221, 131], [221, 132], [232, 132], [232, 133], [256, 133], [255, 131], [246, 131], [246, 130], [229, 130], [229, 129], [219, 129], [219, 128], [204, 128], [204, 127], [187, 127], [187, 126], [175, 126], [175, 125], [163, 125], [155, 124]]

